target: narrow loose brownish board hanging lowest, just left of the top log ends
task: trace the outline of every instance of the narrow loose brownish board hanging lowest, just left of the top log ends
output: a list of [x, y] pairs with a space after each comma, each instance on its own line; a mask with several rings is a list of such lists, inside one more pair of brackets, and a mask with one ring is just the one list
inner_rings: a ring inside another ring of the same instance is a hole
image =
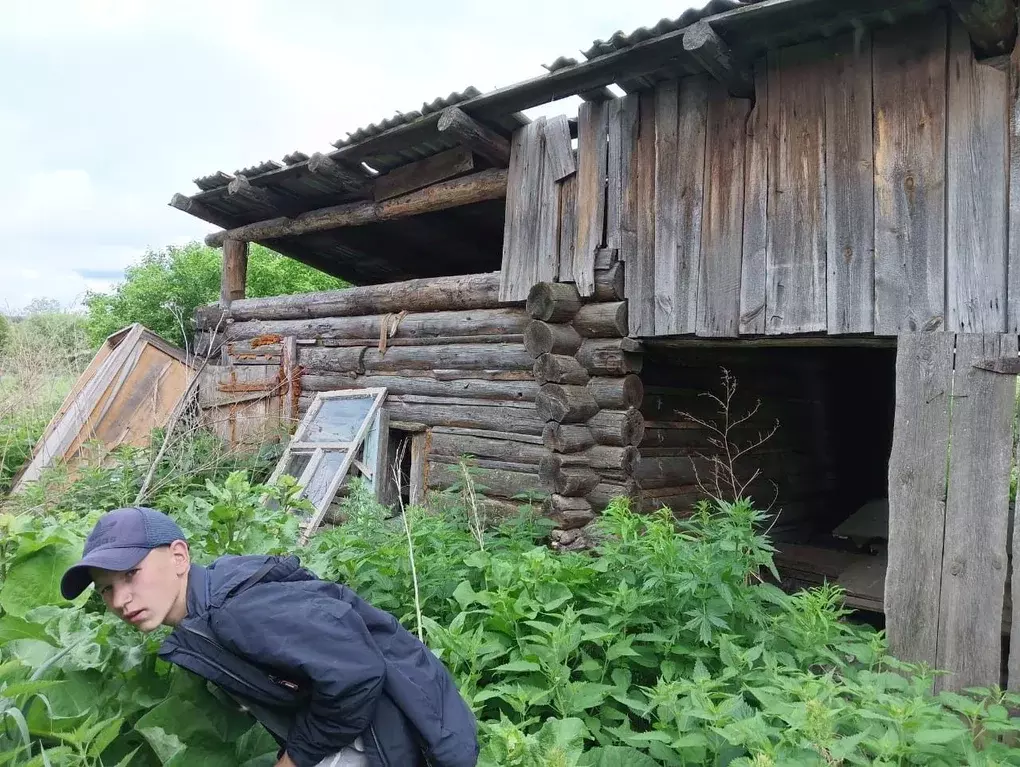
[[595, 294], [595, 252], [606, 215], [607, 106], [585, 101], [577, 113], [577, 242], [573, 276], [583, 297]]

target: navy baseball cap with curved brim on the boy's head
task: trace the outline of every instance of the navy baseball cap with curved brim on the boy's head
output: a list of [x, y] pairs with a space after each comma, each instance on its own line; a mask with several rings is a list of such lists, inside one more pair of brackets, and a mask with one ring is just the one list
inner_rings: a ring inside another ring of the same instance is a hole
[[65, 600], [76, 599], [92, 582], [90, 567], [130, 570], [153, 549], [185, 540], [176, 522], [161, 511], [142, 506], [115, 509], [92, 528], [82, 559], [60, 579], [60, 594]]

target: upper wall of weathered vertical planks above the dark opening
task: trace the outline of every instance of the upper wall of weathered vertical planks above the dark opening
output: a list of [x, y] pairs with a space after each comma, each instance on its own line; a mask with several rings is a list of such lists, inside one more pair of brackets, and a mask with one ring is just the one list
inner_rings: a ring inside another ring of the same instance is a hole
[[635, 337], [1018, 329], [1018, 71], [938, 11], [773, 51], [750, 105], [702, 75], [584, 104], [558, 278], [591, 295], [610, 249]]

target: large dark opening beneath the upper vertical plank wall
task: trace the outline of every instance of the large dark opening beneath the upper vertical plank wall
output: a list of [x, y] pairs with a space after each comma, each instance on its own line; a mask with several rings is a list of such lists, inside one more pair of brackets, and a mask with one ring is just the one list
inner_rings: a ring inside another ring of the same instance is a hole
[[716, 485], [725, 432], [745, 495], [769, 508], [783, 584], [838, 582], [848, 605], [880, 613], [895, 342], [819, 343], [646, 341], [642, 503], [682, 514], [706, 489], [731, 493], [726, 470]]

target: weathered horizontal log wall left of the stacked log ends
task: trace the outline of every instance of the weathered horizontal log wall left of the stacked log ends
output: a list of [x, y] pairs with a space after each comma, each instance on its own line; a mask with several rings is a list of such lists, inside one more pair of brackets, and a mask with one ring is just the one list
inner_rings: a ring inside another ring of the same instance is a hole
[[386, 387], [391, 425], [428, 430], [427, 488], [457, 481], [466, 454], [484, 496], [543, 497], [530, 317], [521, 303], [501, 304], [498, 288], [487, 273], [235, 301], [228, 316], [199, 312], [199, 346], [232, 365], [271, 365], [293, 339], [299, 417], [317, 392]]

